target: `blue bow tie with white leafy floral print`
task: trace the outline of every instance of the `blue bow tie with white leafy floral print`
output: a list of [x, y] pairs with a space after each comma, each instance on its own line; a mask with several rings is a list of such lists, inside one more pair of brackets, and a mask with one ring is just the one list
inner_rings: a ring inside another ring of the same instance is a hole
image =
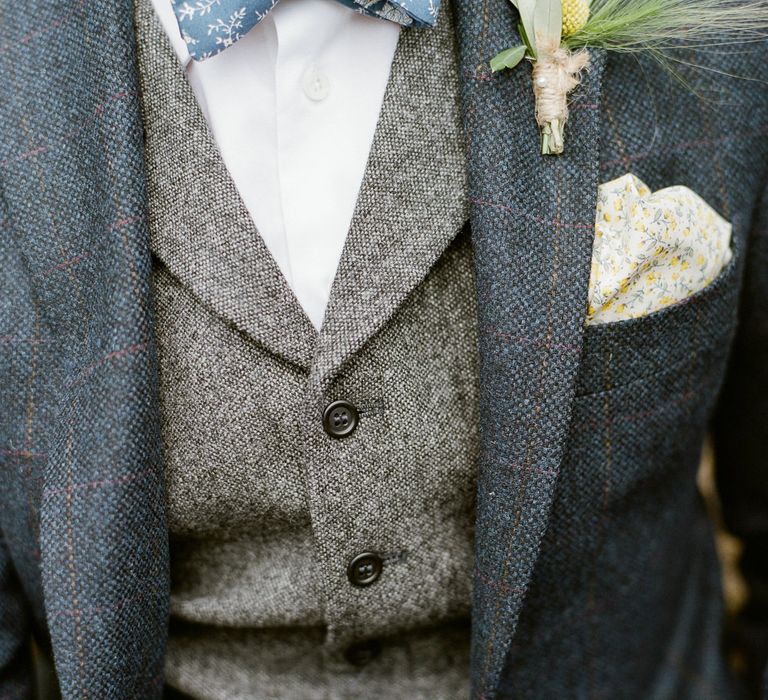
[[[404, 27], [432, 27], [440, 0], [337, 0]], [[181, 36], [196, 61], [215, 56], [245, 36], [278, 0], [171, 0]]]

